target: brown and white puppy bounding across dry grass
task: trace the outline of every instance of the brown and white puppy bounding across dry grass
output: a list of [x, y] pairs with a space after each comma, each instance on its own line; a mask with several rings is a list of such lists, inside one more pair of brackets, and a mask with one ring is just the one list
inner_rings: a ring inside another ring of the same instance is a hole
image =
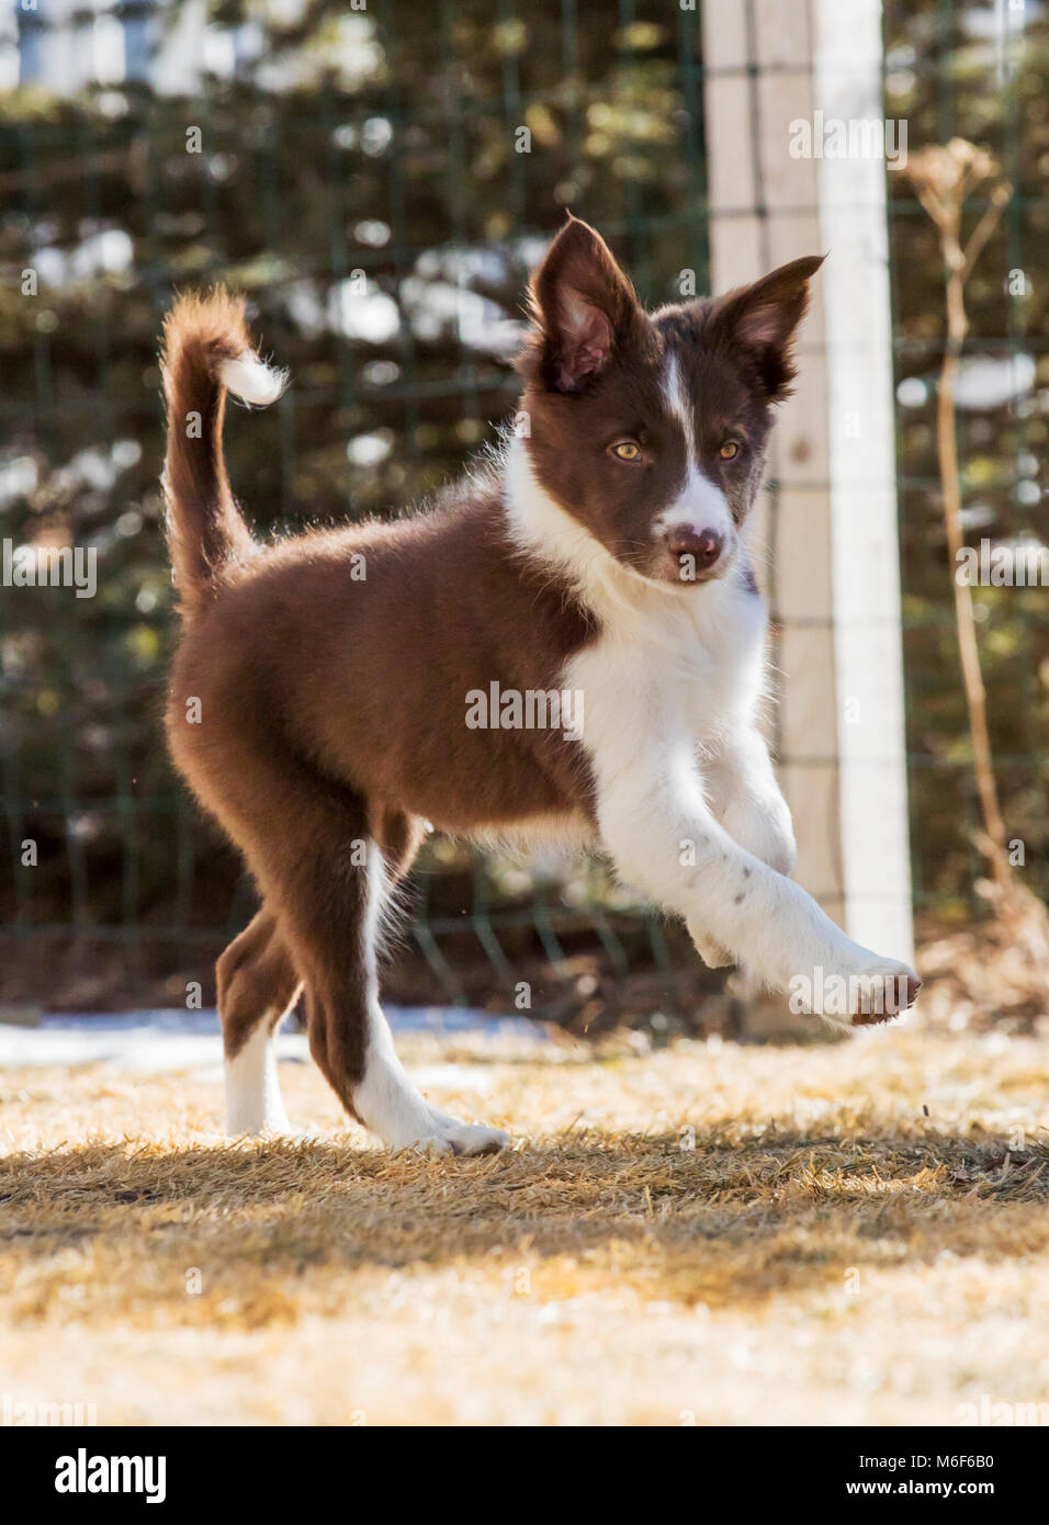
[[819, 264], [648, 314], [570, 218], [532, 285], [499, 465], [415, 518], [271, 546], [233, 500], [223, 413], [227, 390], [265, 404], [284, 377], [241, 302], [175, 303], [168, 737], [262, 894], [218, 962], [233, 1133], [287, 1125], [273, 1035], [305, 987], [311, 1052], [386, 1144], [505, 1141], [422, 1098], [380, 1008], [380, 921], [425, 820], [601, 846], [711, 962], [776, 990], [839, 976], [857, 1020], [913, 1000], [906, 965], [787, 877], [790, 814], [755, 720], [765, 610], [746, 525]]

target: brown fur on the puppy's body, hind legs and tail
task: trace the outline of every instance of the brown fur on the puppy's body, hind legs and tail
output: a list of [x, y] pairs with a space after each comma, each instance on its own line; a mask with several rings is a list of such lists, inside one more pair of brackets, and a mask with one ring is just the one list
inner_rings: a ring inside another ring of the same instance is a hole
[[[305, 981], [311, 1049], [352, 1110], [367, 891], [351, 843], [377, 840], [396, 878], [422, 817], [471, 831], [585, 813], [585, 767], [561, 734], [471, 730], [464, 717], [467, 692], [492, 679], [547, 688], [595, 625], [567, 587], [521, 566], [494, 490], [453, 496], [421, 520], [262, 552], [236, 515], [218, 435], [213, 366], [244, 346], [239, 307], [183, 300], [166, 340], [166, 483], [186, 618], [168, 738], [264, 897], [220, 961], [226, 1046], [235, 1054], [264, 1014], [277, 1020]], [[191, 410], [210, 421], [203, 439], [178, 427]], [[188, 718], [194, 700], [200, 724]]]

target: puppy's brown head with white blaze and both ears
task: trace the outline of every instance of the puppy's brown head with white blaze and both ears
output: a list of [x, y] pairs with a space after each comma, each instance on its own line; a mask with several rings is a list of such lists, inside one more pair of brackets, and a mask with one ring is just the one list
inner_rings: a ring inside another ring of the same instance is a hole
[[820, 264], [650, 314], [592, 227], [569, 218], [553, 239], [518, 361], [528, 450], [541, 486], [618, 561], [683, 587], [729, 570]]

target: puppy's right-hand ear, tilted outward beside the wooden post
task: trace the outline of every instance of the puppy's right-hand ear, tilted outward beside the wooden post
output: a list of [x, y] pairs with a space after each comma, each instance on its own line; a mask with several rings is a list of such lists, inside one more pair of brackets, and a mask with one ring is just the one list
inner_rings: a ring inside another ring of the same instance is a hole
[[756, 369], [772, 401], [787, 396], [794, 380], [794, 331], [808, 307], [808, 282], [825, 259], [791, 259], [753, 285], [729, 291], [707, 317], [704, 337], [736, 349]]

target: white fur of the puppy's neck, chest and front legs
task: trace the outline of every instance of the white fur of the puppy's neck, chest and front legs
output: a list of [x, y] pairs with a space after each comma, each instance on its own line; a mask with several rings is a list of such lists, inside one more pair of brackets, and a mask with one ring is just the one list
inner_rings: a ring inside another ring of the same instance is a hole
[[[558, 682], [585, 697], [598, 824], [621, 874], [685, 917], [700, 952], [727, 950], [787, 991], [814, 970], [872, 982], [910, 970], [852, 942], [791, 883], [790, 813], [756, 727], [765, 610], [735, 560], [706, 584], [619, 566], [541, 488], [521, 441], [508, 454], [508, 520], [601, 618]], [[717, 959], [721, 962], [723, 959]]]

